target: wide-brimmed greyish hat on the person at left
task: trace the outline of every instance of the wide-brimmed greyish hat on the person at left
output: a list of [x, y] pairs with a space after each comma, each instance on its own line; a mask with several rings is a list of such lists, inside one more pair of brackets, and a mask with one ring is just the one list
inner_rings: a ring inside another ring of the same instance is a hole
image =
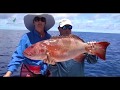
[[25, 24], [25, 27], [30, 31], [35, 29], [34, 24], [33, 24], [33, 19], [36, 16], [46, 18], [46, 25], [45, 25], [46, 31], [48, 31], [50, 28], [52, 28], [55, 24], [55, 19], [50, 14], [40, 14], [40, 15], [28, 14], [28, 15], [24, 16], [24, 24]]

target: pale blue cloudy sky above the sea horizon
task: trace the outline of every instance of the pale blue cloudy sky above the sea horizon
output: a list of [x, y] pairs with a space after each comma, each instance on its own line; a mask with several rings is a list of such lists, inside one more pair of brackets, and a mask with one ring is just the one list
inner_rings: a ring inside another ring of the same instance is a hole
[[[27, 30], [23, 18], [27, 14], [41, 13], [0, 13], [0, 30]], [[60, 19], [72, 21], [75, 32], [100, 32], [120, 34], [120, 13], [48, 13], [55, 18], [50, 31], [58, 31]]]

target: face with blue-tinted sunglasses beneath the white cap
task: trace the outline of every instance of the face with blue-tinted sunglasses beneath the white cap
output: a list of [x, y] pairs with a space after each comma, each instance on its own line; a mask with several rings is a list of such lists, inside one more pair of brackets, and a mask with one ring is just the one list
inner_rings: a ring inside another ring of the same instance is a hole
[[60, 35], [68, 36], [68, 35], [71, 34], [72, 26], [71, 25], [65, 25], [63, 27], [58, 27], [58, 29], [59, 29]]

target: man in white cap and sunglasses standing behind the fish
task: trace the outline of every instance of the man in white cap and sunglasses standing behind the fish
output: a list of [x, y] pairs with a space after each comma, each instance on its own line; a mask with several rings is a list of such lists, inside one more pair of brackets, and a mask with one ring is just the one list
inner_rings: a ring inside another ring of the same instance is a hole
[[[62, 19], [59, 22], [58, 30], [60, 36], [68, 36], [71, 34], [72, 23], [69, 19]], [[81, 39], [82, 40], [82, 39]], [[83, 41], [83, 40], [82, 40]], [[83, 41], [84, 42], [84, 41]], [[91, 46], [94, 42], [88, 42]], [[58, 62], [55, 65], [50, 65], [51, 77], [81, 77], [84, 75], [84, 60], [87, 59], [89, 63], [96, 63], [97, 57], [90, 54], [81, 54], [74, 59]]]

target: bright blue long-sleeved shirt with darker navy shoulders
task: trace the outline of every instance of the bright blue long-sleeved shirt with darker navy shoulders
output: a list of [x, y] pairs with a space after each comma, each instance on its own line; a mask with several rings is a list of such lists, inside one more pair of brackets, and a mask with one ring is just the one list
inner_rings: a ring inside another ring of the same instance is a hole
[[36, 30], [32, 30], [31, 32], [28, 32], [24, 34], [21, 37], [21, 40], [15, 50], [15, 52], [12, 55], [11, 61], [8, 64], [8, 70], [12, 73], [18, 69], [18, 67], [24, 63], [29, 65], [40, 65], [41, 66], [41, 74], [45, 74], [47, 70], [47, 64], [44, 63], [42, 60], [30, 60], [26, 58], [23, 55], [23, 51], [31, 46], [32, 44], [35, 44], [36, 42], [49, 39], [51, 37], [50, 34], [46, 32], [46, 36], [44, 38], [41, 38], [39, 33]]

